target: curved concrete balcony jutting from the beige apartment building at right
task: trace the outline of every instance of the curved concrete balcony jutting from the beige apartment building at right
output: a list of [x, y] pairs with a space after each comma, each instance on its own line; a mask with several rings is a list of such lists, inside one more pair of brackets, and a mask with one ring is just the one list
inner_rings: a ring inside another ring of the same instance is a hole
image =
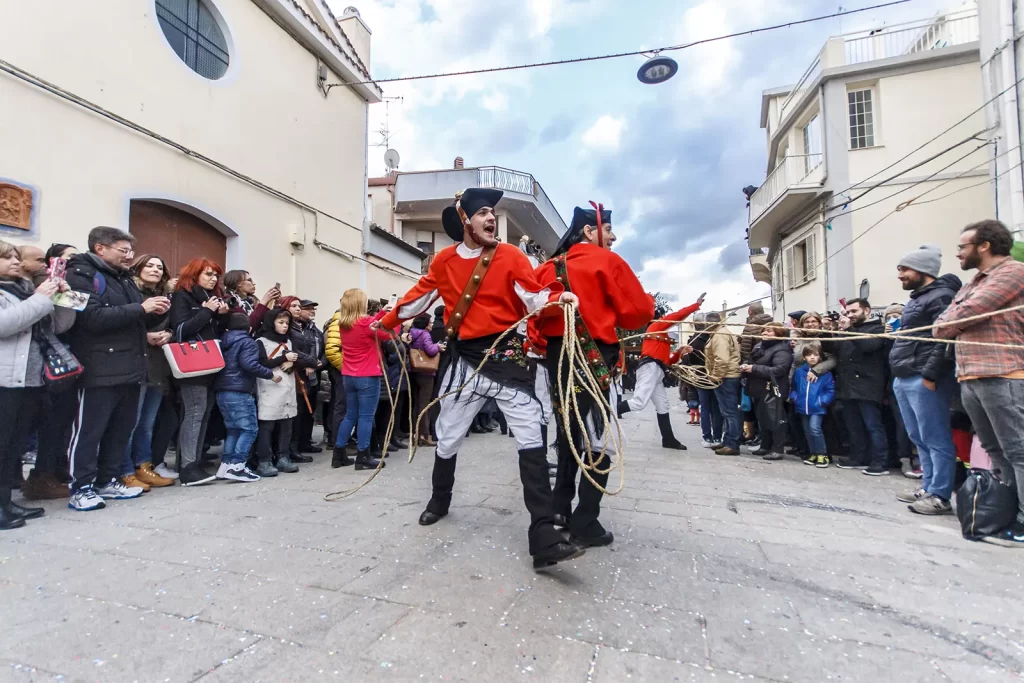
[[750, 248], [771, 247], [775, 230], [808, 202], [825, 191], [822, 155], [794, 155], [782, 160], [751, 196]]

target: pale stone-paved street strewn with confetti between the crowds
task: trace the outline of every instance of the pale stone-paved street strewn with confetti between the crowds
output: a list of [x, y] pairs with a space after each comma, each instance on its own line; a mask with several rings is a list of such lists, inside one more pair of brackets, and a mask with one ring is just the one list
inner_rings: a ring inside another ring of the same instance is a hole
[[[899, 476], [716, 457], [628, 416], [610, 548], [535, 572], [515, 446], [47, 505], [0, 533], [0, 681], [1019, 681], [1024, 554], [895, 501]], [[614, 480], [614, 478], [613, 478]]]

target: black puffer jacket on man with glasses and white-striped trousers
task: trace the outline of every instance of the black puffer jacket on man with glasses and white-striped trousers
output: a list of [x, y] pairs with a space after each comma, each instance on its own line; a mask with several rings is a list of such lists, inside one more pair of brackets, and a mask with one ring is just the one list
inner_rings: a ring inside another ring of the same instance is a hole
[[145, 311], [131, 273], [95, 254], [75, 254], [68, 260], [67, 281], [89, 295], [69, 333], [83, 368], [79, 386], [145, 382]]

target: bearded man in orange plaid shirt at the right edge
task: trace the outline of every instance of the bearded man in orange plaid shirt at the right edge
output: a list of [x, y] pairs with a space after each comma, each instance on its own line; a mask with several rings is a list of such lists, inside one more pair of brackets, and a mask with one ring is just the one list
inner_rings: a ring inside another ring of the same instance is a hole
[[[1024, 263], [1010, 256], [1014, 238], [997, 220], [972, 223], [961, 233], [956, 258], [978, 274], [964, 286], [932, 334], [941, 339], [1024, 345], [1024, 310], [967, 318], [1024, 305]], [[956, 346], [956, 378], [964, 408], [981, 445], [1006, 483], [1017, 485], [1017, 521], [984, 539], [1024, 548], [1024, 347]]]

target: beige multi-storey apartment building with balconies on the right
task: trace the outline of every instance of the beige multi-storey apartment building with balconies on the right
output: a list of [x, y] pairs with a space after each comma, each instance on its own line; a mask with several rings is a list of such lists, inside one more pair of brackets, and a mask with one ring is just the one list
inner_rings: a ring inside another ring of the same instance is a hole
[[[765, 180], [750, 198], [755, 280], [777, 319], [866, 296], [904, 301], [900, 256], [994, 215], [974, 3], [829, 38], [800, 81], [765, 90]], [[973, 137], [974, 136], [974, 137]]]

